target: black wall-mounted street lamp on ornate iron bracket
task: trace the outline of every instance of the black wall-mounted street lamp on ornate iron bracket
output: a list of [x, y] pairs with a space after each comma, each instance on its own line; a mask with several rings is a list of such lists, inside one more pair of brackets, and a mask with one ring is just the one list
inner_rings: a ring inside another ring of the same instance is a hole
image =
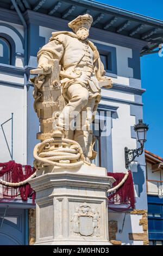
[[134, 131], [137, 134], [137, 141], [141, 147], [138, 149], [124, 148], [126, 169], [128, 169], [129, 163], [133, 162], [136, 156], [140, 156], [143, 153], [144, 144], [147, 141], [146, 133], [148, 131], [148, 125], [144, 124], [142, 119], [139, 119], [139, 123], [134, 126]]

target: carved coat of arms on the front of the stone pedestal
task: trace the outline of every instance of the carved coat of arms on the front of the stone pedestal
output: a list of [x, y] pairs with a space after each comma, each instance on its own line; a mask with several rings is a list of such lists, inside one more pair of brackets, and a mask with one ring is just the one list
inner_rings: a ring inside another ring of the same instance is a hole
[[72, 230], [76, 235], [100, 236], [99, 218], [97, 209], [91, 209], [87, 203], [83, 203], [72, 216]]

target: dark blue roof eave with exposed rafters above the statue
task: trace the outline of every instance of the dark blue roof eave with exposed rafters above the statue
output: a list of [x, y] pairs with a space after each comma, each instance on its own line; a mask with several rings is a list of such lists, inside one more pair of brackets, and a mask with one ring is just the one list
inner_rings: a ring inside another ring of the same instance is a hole
[[[94, 19], [93, 27], [145, 41], [146, 45], [142, 47], [141, 55], [155, 52], [154, 49], [163, 43], [163, 21], [96, 1], [26, 0], [21, 4], [17, 2], [17, 5], [23, 14], [31, 10], [34, 13], [68, 21], [78, 15], [89, 13]], [[10, 0], [0, 3], [0, 7], [13, 9]]]

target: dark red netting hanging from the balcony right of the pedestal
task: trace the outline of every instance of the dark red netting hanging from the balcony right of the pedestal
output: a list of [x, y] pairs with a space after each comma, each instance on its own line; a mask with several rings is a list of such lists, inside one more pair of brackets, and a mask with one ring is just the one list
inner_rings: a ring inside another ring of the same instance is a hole
[[[112, 187], [117, 186], [124, 178], [125, 173], [108, 173], [108, 176], [115, 178]], [[135, 208], [134, 184], [131, 171], [124, 184], [118, 190], [111, 192], [108, 196], [109, 204], [129, 204], [129, 208]]]

